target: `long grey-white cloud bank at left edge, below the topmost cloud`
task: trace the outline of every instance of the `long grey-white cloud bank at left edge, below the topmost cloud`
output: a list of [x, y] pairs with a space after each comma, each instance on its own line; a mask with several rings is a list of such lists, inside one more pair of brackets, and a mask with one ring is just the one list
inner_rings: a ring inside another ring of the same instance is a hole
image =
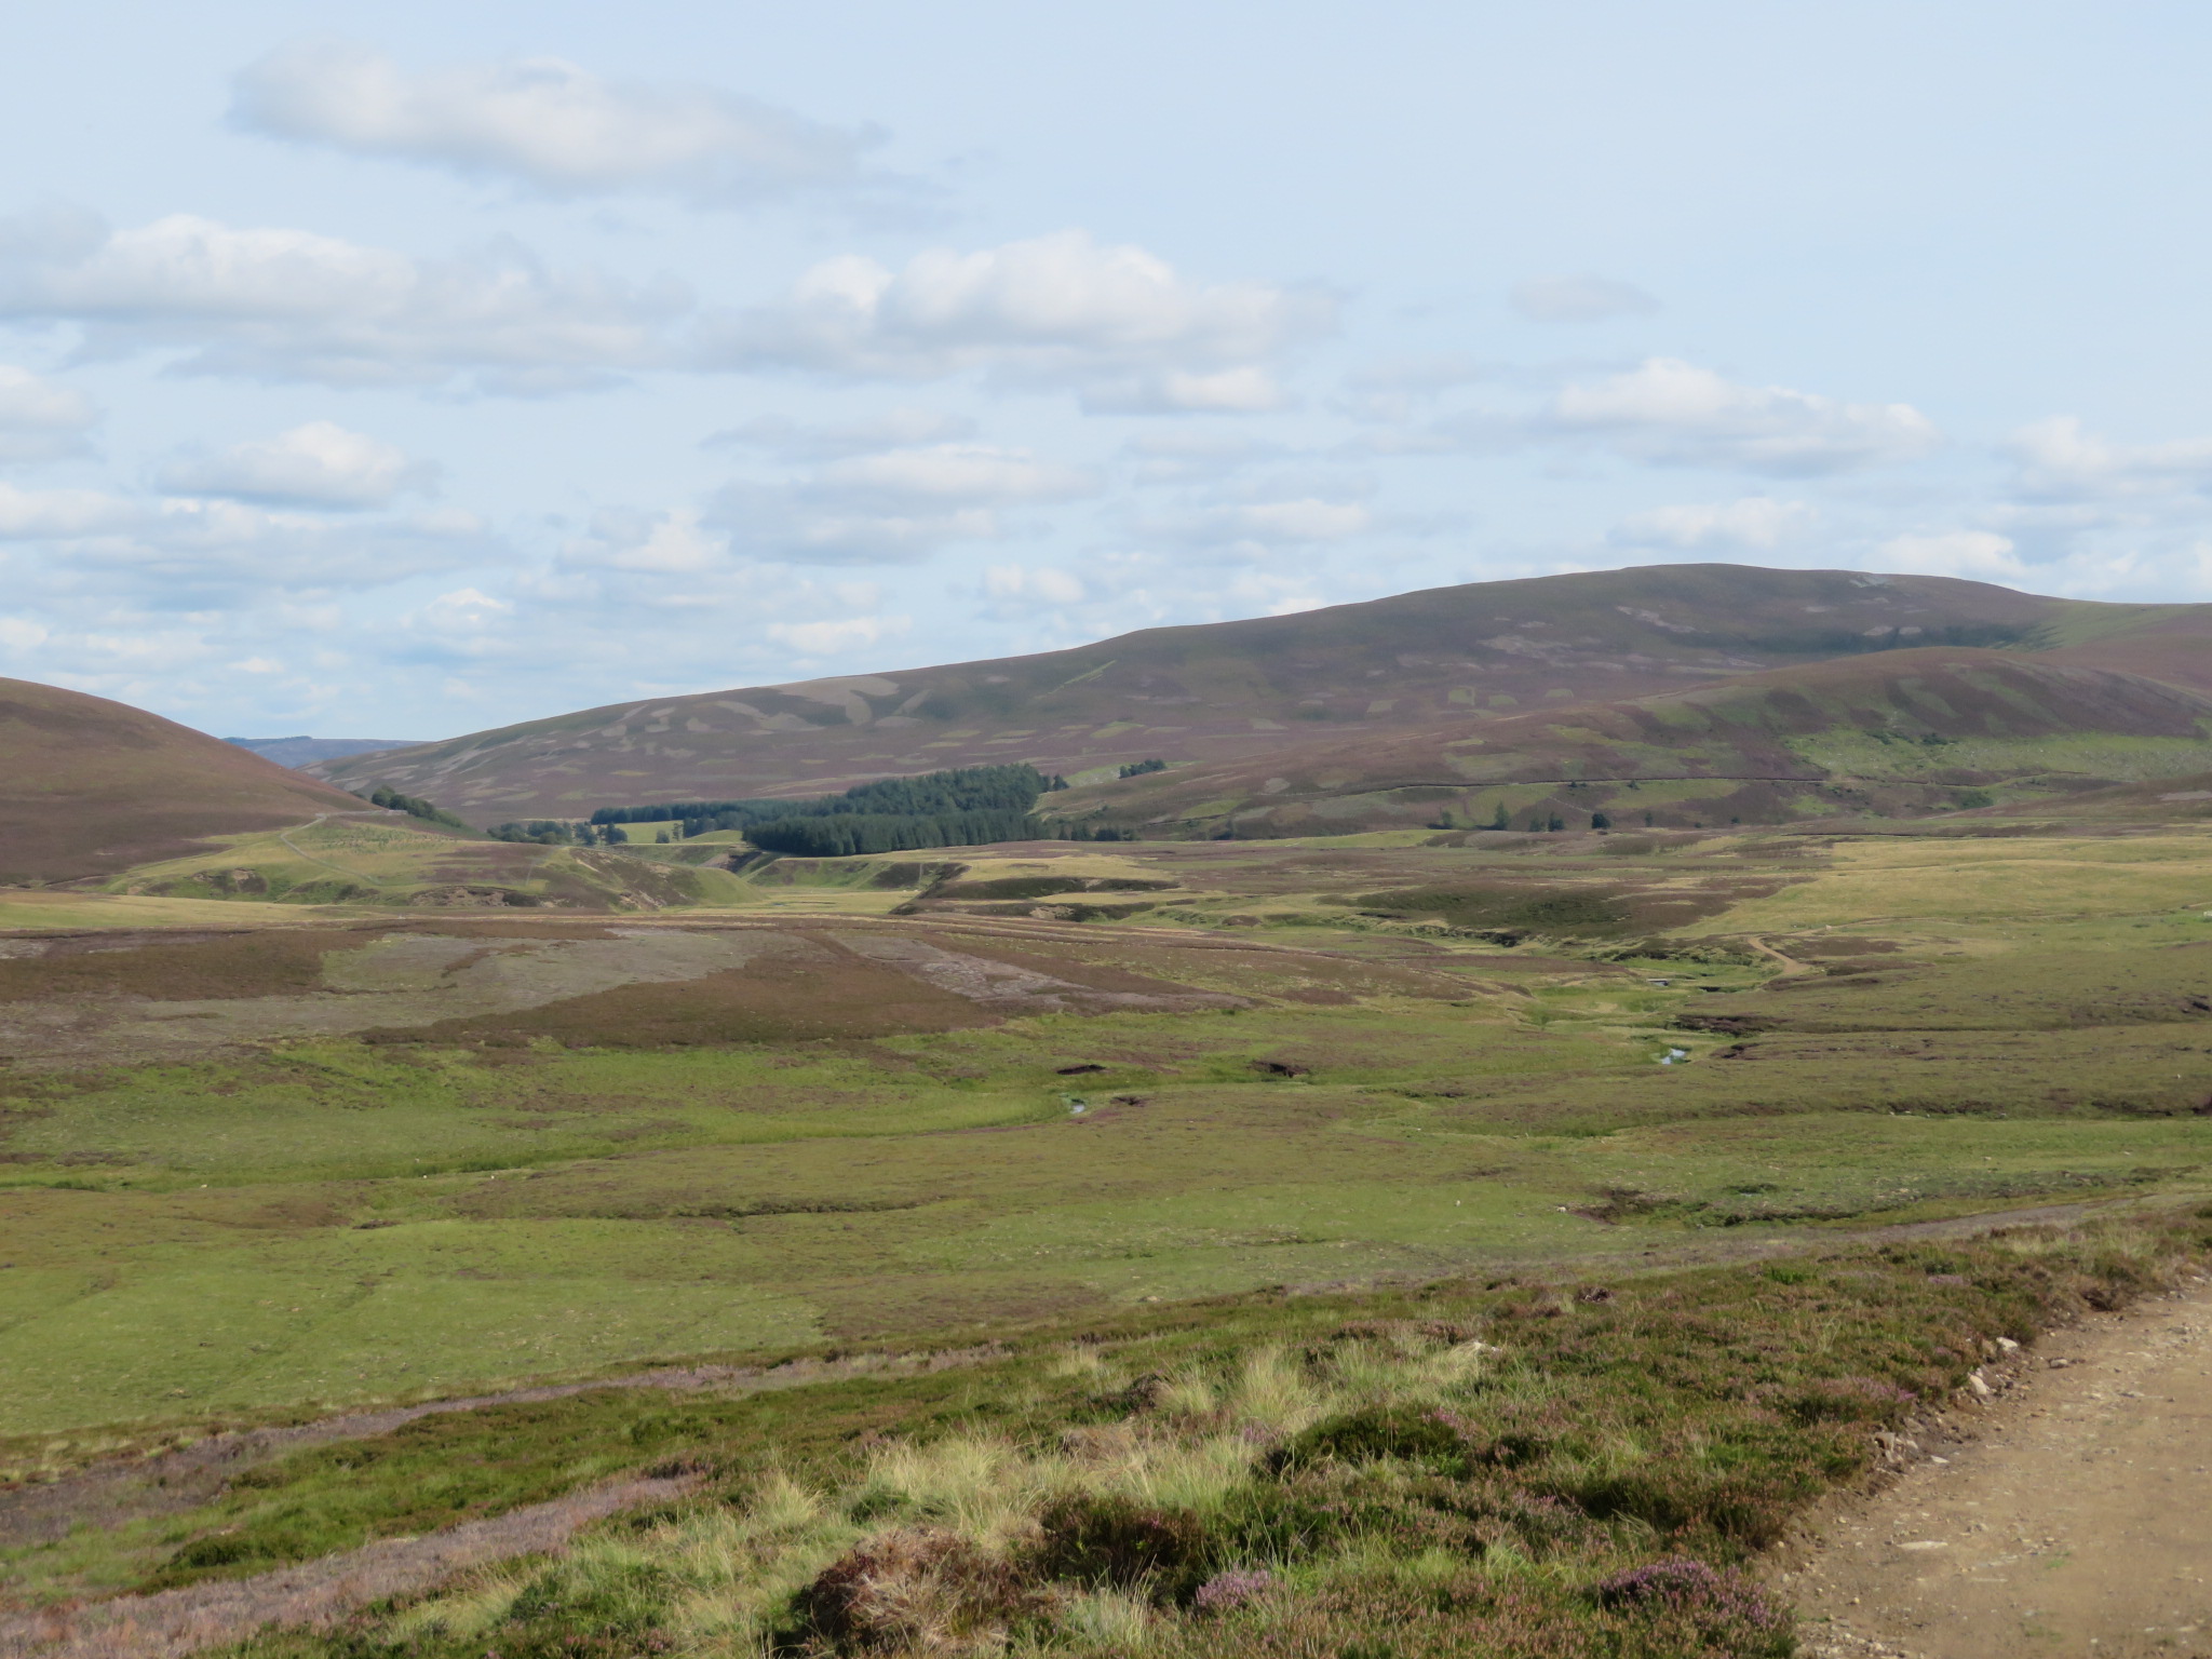
[[170, 215], [0, 221], [0, 319], [75, 323], [88, 356], [181, 349], [184, 374], [562, 392], [664, 358], [688, 292], [551, 272], [522, 248], [418, 261], [310, 230]]

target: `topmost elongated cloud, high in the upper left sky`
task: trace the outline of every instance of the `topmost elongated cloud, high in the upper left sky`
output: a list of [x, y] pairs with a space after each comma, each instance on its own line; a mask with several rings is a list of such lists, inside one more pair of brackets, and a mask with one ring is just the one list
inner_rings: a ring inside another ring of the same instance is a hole
[[551, 195], [657, 190], [721, 206], [849, 186], [878, 142], [690, 82], [611, 82], [560, 58], [407, 73], [343, 40], [281, 46], [234, 91], [232, 117], [259, 133]]

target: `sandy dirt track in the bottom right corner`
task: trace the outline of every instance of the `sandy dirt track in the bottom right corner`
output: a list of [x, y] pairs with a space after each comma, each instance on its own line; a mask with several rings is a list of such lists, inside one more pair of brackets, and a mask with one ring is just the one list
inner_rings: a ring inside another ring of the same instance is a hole
[[1986, 1376], [1986, 1405], [1776, 1573], [1807, 1659], [2212, 1659], [2212, 1287]]

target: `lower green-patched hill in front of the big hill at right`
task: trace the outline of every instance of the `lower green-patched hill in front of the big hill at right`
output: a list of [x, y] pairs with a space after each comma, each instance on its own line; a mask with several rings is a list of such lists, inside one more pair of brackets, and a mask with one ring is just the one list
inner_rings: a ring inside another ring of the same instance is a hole
[[1148, 836], [1586, 830], [1597, 814], [1710, 827], [1986, 807], [2179, 779], [2208, 757], [2205, 692], [2059, 653], [1924, 648], [1175, 768], [1051, 796], [1051, 812]]

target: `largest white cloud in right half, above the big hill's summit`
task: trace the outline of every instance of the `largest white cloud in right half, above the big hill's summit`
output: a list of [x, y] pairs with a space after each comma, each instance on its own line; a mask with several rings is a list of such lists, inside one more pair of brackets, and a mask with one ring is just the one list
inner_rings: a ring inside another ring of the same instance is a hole
[[1544, 425], [1604, 438], [1666, 467], [1783, 476], [1913, 460], [1940, 442], [1936, 425], [1909, 403], [1840, 403], [1778, 385], [1739, 385], [1663, 356], [1628, 374], [1568, 385]]

